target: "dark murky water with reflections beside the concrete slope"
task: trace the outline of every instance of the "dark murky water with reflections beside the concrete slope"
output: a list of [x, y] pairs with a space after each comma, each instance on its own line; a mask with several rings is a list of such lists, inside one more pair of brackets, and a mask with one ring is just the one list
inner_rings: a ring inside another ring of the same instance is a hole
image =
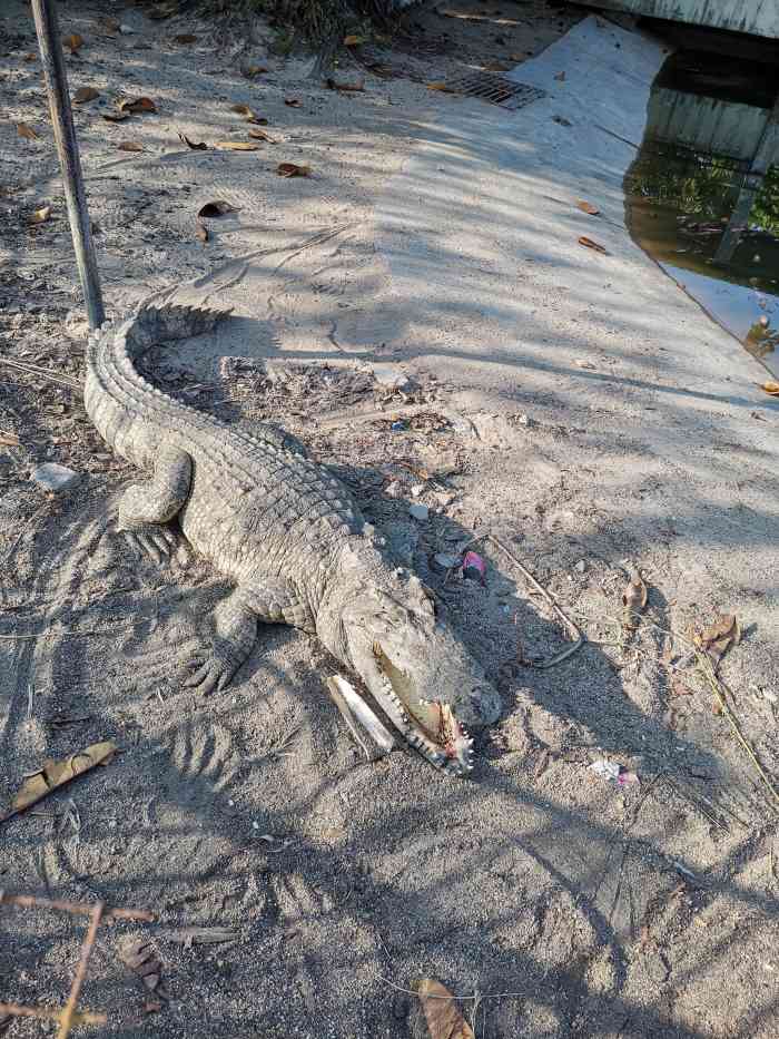
[[625, 177], [633, 238], [779, 376], [779, 63], [681, 51]]

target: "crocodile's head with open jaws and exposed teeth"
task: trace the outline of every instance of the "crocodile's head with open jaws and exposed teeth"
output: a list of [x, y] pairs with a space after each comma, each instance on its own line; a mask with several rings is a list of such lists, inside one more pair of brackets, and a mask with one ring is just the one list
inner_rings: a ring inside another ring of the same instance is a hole
[[496, 721], [497, 692], [436, 618], [418, 578], [398, 568], [383, 585], [363, 585], [344, 604], [342, 659], [411, 746], [437, 768], [466, 775], [473, 765], [466, 726]]

